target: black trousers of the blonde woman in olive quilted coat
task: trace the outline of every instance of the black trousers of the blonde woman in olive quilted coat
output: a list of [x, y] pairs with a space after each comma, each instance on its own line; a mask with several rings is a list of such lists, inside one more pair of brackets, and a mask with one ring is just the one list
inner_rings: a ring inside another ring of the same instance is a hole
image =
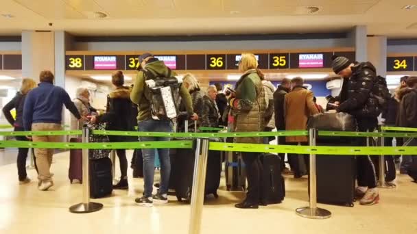
[[241, 155], [246, 166], [246, 177], [248, 178], [246, 201], [258, 204], [262, 198], [261, 185], [263, 174], [263, 166], [259, 159], [259, 153], [241, 153]]

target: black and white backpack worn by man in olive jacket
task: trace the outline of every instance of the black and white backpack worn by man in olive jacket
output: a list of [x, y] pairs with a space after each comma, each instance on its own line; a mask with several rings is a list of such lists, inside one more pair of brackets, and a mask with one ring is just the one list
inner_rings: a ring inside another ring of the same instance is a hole
[[182, 78], [171, 75], [171, 69], [169, 68], [166, 77], [155, 75], [146, 68], [142, 70], [145, 74], [145, 86], [147, 87], [145, 96], [150, 101], [152, 118], [154, 120], [177, 118]]

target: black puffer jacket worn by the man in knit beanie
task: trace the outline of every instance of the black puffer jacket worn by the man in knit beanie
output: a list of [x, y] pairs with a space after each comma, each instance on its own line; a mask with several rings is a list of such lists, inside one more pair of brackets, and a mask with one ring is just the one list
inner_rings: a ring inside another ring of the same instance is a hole
[[357, 118], [377, 117], [381, 110], [378, 100], [372, 96], [372, 90], [378, 82], [377, 69], [370, 62], [362, 62], [352, 66], [352, 71], [348, 85], [342, 87], [339, 112]]

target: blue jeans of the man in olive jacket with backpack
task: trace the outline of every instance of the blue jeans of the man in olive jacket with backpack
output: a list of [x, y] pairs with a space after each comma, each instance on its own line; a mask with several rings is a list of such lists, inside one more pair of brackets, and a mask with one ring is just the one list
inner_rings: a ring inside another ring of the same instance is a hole
[[[172, 125], [169, 120], [145, 120], [139, 122], [138, 131], [171, 132]], [[140, 137], [141, 142], [168, 141], [169, 138]], [[155, 150], [143, 148], [143, 180], [145, 181], [144, 196], [152, 196], [155, 174]], [[168, 193], [169, 174], [171, 174], [171, 161], [169, 160], [169, 148], [158, 148], [160, 159], [160, 194]]]

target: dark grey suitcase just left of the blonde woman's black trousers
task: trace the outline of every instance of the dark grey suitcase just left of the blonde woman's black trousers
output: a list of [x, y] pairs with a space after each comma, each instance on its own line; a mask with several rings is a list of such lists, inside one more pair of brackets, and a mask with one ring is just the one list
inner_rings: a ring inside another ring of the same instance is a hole
[[246, 191], [246, 168], [239, 152], [225, 152], [225, 179], [228, 191]]

